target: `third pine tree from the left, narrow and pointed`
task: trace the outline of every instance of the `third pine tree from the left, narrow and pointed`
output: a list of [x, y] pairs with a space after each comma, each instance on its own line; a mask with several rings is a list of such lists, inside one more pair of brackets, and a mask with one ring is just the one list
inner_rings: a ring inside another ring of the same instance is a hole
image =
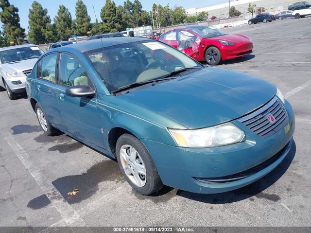
[[68, 8], [60, 5], [54, 22], [58, 38], [60, 40], [67, 40], [72, 35], [72, 18]]

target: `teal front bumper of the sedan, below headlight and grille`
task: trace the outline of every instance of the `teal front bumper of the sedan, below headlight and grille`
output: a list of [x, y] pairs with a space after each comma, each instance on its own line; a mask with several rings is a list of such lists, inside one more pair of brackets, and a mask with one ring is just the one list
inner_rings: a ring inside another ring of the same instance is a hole
[[[288, 124], [268, 138], [261, 138], [242, 123], [233, 121], [246, 134], [246, 141], [213, 148], [182, 148], [141, 139], [151, 154], [163, 184], [194, 193], [222, 193], [241, 188], [271, 172], [289, 153], [293, 145], [294, 113], [284, 105]], [[259, 164], [273, 156], [266, 166]], [[245, 178], [223, 183], [202, 179], [228, 177], [256, 166], [260, 168]], [[198, 179], [199, 178], [199, 179]]]

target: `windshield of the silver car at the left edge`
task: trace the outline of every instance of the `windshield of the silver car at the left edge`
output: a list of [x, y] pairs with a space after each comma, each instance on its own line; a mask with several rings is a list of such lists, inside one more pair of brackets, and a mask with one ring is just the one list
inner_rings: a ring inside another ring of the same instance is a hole
[[2, 63], [9, 63], [37, 58], [40, 57], [42, 54], [43, 51], [39, 49], [39, 47], [33, 46], [1, 51], [0, 58]]

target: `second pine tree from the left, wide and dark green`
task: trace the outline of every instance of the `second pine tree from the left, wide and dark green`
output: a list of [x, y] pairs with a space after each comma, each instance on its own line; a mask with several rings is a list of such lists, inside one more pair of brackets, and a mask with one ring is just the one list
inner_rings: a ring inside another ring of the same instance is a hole
[[35, 44], [50, 43], [56, 40], [48, 10], [34, 1], [29, 9], [29, 41]]

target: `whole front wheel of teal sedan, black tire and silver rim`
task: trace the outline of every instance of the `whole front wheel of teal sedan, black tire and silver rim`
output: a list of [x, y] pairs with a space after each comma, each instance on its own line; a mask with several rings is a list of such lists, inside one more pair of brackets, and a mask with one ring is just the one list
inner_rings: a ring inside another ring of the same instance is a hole
[[[163, 187], [155, 163], [138, 138], [122, 134], [117, 141], [116, 151], [121, 172], [134, 190], [143, 195], [150, 195]], [[130, 151], [133, 157], [130, 156]], [[137, 172], [136, 168], [139, 168], [141, 173]]]

